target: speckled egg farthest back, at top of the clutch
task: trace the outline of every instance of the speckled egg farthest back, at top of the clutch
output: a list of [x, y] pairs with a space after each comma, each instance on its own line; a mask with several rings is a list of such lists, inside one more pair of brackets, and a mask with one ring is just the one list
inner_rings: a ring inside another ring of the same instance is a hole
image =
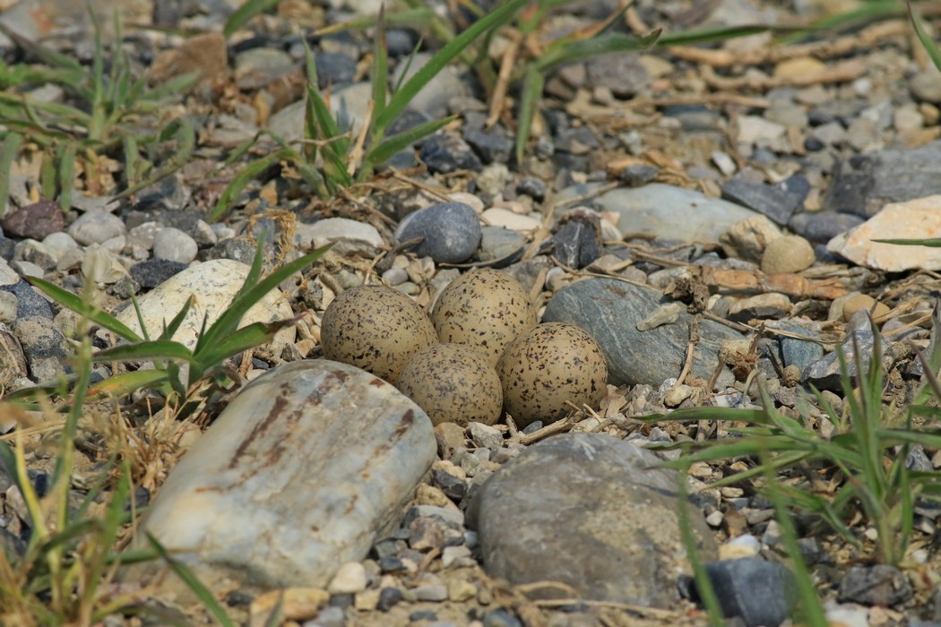
[[442, 344], [466, 344], [496, 364], [514, 337], [535, 326], [529, 294], [499, 270], [471, 270], [455, 278], [435, 304], [431, 320]]

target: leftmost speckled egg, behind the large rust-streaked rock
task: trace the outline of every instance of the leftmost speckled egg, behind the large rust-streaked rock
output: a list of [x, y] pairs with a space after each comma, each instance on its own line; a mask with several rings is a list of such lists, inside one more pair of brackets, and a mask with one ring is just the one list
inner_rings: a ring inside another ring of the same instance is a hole
[[422, 307], [401, 291], [369, 285], [342, 291], [324, 312], [327, 359], [357, 366], [391, 384], [415, 353], [438, 342]]

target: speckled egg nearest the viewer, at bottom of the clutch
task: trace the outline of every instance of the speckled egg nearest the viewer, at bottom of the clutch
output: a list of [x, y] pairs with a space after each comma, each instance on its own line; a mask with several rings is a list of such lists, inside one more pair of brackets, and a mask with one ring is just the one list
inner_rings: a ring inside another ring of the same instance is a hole
[[470, 346], [439, 344], [415, 353], [402, 369], [398, 387], [435, 425], [492, 425], [500, 419], [500, 378], [486, 355]]

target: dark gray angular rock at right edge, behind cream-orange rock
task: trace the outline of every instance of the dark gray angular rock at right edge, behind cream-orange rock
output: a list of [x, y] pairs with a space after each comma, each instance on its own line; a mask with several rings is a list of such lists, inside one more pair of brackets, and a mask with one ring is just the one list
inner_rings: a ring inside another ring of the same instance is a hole
[[885, 149], [837, 164], [824, 206], [872, 217], [886, 204], [941, 194], [941, 141], [917, 149]]

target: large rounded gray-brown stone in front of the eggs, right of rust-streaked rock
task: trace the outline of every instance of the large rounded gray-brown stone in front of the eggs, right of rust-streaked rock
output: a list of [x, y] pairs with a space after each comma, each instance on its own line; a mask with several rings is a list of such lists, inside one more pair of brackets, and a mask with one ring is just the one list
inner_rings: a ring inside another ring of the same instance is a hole
[[[487, 479], [468, 509], [484, 569], [511, 584], [557, 581], [591, 601], [675, 607], [689, 572], [678, 474], [640, 447], [566, 433], [524, 450]], [[690, 506], [702, 556], [715, 541]], [[560, 594], [542, 588], [540, 594]], [[565, 593], [562, 593], [565, 594]]]

